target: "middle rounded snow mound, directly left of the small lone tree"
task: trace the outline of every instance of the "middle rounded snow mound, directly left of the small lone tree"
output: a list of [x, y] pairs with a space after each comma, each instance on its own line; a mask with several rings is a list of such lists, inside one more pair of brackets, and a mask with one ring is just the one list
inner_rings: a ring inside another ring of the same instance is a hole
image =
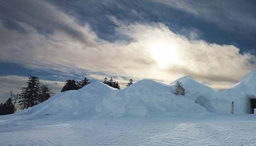
[[110, 111], [114, 117], [209, 116], [205, 108], [185, 96], [172, 94], [172, 86], [141, 80], [106, 96], [95, 110]]

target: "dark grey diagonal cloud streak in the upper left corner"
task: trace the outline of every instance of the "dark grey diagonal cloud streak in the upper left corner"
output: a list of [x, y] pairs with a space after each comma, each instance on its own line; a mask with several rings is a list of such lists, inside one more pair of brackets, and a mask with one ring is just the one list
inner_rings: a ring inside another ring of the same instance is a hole
[[[59, 31], [71, 36], [74, 40], [94, 46], [95, 34], [90, 31], [88, 25], [80, 26], [74, 23], [75, 18], [64, 14], [48, 2], [12, 0], [4, 1], [2, 7], [5, 10], [2, 15], [8, 18], [12, 17], [18, 23], [24, 22], [42, 32]], [[24, 30], [26, 32], [26, 29]]]

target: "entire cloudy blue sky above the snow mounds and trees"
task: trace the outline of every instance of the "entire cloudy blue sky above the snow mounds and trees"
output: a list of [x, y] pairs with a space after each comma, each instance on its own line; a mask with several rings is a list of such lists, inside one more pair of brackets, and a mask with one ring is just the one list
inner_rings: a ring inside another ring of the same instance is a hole
[[30, 75], [231, 88], [256, 69], [254, 0], [0, 0], [0, 102]]

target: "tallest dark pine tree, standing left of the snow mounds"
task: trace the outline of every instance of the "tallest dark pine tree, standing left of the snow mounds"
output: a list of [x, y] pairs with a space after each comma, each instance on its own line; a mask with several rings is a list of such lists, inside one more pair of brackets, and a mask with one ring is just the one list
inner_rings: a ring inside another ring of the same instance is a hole
[[21, 106], [21, 109], [32, 107], [38, 104], [39, 93], [40, 93], [40, 82], [39, 78], [36, 76], [30, 76], [27, 82], [28, 86], [22, 88], [18, 103]]

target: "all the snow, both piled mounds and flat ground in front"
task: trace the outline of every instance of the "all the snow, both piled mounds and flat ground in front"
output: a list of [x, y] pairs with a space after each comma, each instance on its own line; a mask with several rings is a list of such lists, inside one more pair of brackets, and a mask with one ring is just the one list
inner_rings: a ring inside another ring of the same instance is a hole
[[[256, 144], [256, 71], [218, 91], [190, 76], [175, 85], [140, 80], [117, 90], [94, 82], [0, 116], [0, 145]], [[234, 101], [234, 113], [231, 103]]]

